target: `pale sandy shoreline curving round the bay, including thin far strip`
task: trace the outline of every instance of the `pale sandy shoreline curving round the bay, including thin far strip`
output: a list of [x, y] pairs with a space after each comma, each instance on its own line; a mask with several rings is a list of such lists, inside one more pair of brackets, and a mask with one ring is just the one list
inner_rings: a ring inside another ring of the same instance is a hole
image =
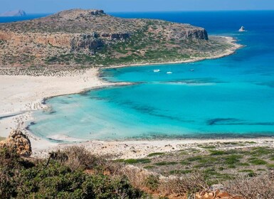
[[[167, 63], [144, 63], [144, 64], [132, 64], [132, 65], [117, 65], [105, 68], [123, 68], [132, 66], [146, 66], [146, 65], [164, 65], [164, 64], [179, 64], [179, 63], [193, 63], [200, 60], [216, 59], [231, 55], [236, 52], [243, 45], [236, 43], [236, 39], [232, 37], [219, 36], [225, 38], [226, 42], [233, 45], [231, 48], [224, 50], [222, 53], [217, 55], [212, 55], [208, 58], [192, 58], [189, 60], [182, 60], [176, 62]], [[36, 110], [45, 109], [47, 107], [43, 102], [51, 97], [56, 97], [60, 95], [71, 95], [80, 92], [86, 92], [88, 90], [97, 89], [100, 87], [108, 86], [119, 86], [119, 85], [129, 85], [129, 82], [106, 82], [100, 78], [100, 69], [102, 68], [90, 68], [85, 72], [77, 72], [62, 77], [56, 76], [28, 76], [28, 75], [0, 75], [0, 88], [3, 90], [0, 96], [1, 109], [0, 109], [0, 136], [9, 136], [11, 129], [24, 129], [26, 134], [31, 140], [31, 145], [33, 149], [33, 156], [45, 156], [48, 151], [53, 149], [63, 148], [65, 146], [70, 146], [71, 144], [60, 144], [41, 137], [33, 135], [30, 131], [26, 129], [28, 124], [33, 121], [32, 112]], [[12, 78], [11, 78], [12, 77]], [[15, 114], [20, 113], [20, 114]], [[14, 115], [13, 115], [14, 114]], [[8, 117], [5, 117], [8, 116]], [[258, 138], [255, 138], [258, 139]], [[146, 153], [151, 153], [154, 151], [155, 147], [159, 146], [159, 143], [165, 143], [161, 150], [165, 149], [167, 143], [179, 142], [181, 144], [186, 143], [201, 143], [201, 141], [209, 142], [216, 141], [217, 139], [162, 139], [162, 140], [123, 140], [123, 141], [85, 141], [77, 145], [91, 147], [94, 146], [93, 151], [97, 151], [98, 154], [105, 154], [107, 146], [118, 146], [118, 148], [109, 152], [115, 151], [115, 156], [117, 152], [120, 151], [120, 145], [127, 143], [132, 143], [132, 147], [138, 148], [142, 146], [147, 146], [147, 149], [137, 156], [145, 156]], [[238, 140], [235, 139], [224, 139], [227, 140]], [[251, 139], [242, 139], [249, 141]], [[263, 138], [260, 140], [272, 140], [271, 138]], [[88, 144], [89, 146], [86, 146]], [[105, 144], [105, 145], [104, 145]], [[75, 143], [73, 144], [75, 145]], [[101, 146], [103, 145], [103, 146]], [[102, 148], [104, 147], [104, 148]], [[122, 146], [122, 149], [124, 147]], [[175, 148], [174, 148], [175, 149]], [[159, 149], [160, 150], [160, 149]], [[173, 149], [172, 149], [173, 150]], [[101, 152], [100, 152], [101, 151]], [[142, 151], [142, 150], [141, 150]], [[136, 156], [136, 154], [130, 153], [130, 151], [120, 151], [119, 153], [130, 154], [130, 156]]]

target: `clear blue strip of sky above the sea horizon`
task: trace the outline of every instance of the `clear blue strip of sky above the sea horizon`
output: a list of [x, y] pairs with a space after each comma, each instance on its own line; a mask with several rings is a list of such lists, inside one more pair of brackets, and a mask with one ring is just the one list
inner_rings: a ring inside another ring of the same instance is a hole
[[23, 9], [48, 14], [65, 9], [128, 11], [274, 10], [274, 0], [0, 0], [0, 12]]

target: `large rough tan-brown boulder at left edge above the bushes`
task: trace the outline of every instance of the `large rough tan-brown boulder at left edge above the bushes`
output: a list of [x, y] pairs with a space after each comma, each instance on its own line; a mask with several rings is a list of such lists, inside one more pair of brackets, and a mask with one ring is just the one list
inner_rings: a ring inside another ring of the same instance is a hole
[[0, 142], [0, 147], [8, 147], [14, 149], [17, 154], [21, 156], [31, 156], [31, 141], [28, 136], [22, 133], [20, 130], [12, 130], [9, 137]]

